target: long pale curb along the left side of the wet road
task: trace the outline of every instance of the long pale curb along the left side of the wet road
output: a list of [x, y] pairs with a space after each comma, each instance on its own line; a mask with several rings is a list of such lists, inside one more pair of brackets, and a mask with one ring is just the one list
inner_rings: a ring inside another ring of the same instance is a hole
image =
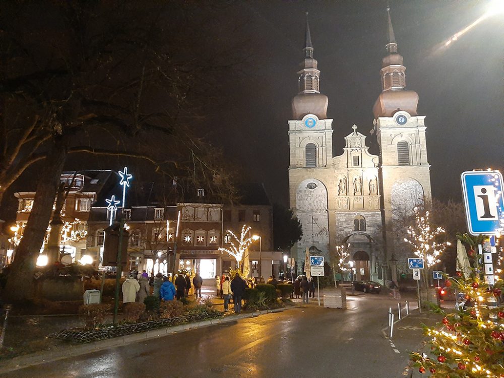
[[0, 374], [8, 373], [14, 370], [23, 369], [25, 367], [40, 365], [42, 363], [54, 362], [62, 360], [65, 358], [76, 357], [83, 354], [98, 352], [108, 348], [120, 347], [128, 345], [131, 343], [136, 343], [139, 341], [146, 341], [151, 339], [156, 339], [159, 337], [164, 337], [177, 332], [184, 332], [192, 329], [213, 326], [216, 324], [235, 322], [240, 319], [245, 318], [257, 318], [260, 315], [267, 313], [282, 312], [291, 308], [296, 308], [297, 306], [288, 306], [283, 308], [275, 308], [272, 310], [261, 310], [253, 311], [247, 313], [240, 313], [238, 315], [231, 315], [220, 319], [209, 319], [201, 322], [195, 322], [190, 324], [181, 324], [173, 327], [159, 328], [157, 330], [146, 331], [142, 333], [136, 333], [127, 336], [116, 337], [108, 340], [95, 341], [90, 344], [78, 344], [78, 345], [62, 345], [54, 349], [42, 352], [36, 352], [32, 354], [27, 354], [23, 356], [13, 357], [12, 359], [0, 362]]

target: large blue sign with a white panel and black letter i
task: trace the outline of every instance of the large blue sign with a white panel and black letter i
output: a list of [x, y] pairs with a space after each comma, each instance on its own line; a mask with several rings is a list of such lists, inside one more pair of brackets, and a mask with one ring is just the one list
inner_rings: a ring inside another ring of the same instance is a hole
[[469, 233], [497, 232], [504, 214], [502, 174], [499, 171], [470, 171], [463, 172], [460, 179]]

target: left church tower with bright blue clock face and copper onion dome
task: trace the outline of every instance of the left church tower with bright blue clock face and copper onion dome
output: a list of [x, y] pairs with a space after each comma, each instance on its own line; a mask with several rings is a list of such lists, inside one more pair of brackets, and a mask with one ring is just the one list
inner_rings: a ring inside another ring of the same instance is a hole
[[[302, 239], [292, 256], [302, 264], [306, 248], [329, 258], [329, 229], [334, 217], [335, 177], [332, 166], [332, 119], [327, 118], [328, 98], [320, 91], [321, 72], [313, 57], [306, 13], [306, 34], [298, 76], [298, 94], [292, 99], [289, 120], [289, 196], [303, 227]], [[332, 224], [334, 227], [334, 224]]]

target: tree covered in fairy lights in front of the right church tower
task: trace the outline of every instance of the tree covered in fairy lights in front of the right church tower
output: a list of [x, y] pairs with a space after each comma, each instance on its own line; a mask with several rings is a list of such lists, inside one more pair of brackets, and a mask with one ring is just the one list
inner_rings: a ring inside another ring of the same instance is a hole
[[[440, 261], [439, 255], [450, 245], [450, 242], [438, 241], [439, 235], [444, 234], [445, 230], [443, 227], [432, 225], [428, 210], [422, 210], [418, 207], [415, 207], [413, 210], [415, 212], [415, 220], [408, 227], [408, 236], [404, 238], [404, 241], [411, 246], [411, 250], [417, 257], [425, 261], [427, 268], [431, 268]], [[424, 287], [427, 288], [429, 269], [423, 269], [422, 273], [422, 281]]]

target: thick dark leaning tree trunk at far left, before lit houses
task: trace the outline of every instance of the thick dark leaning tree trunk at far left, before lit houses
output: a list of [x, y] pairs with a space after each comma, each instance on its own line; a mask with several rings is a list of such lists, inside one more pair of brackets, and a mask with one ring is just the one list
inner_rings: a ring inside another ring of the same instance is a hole
[[51, 219], [67, 150], [68, 138], [55, 137], [42, 168], [33, 208], [7, 279], [4, 297], [8, 302], [25, 302], [34, 297], [35, 264]]

